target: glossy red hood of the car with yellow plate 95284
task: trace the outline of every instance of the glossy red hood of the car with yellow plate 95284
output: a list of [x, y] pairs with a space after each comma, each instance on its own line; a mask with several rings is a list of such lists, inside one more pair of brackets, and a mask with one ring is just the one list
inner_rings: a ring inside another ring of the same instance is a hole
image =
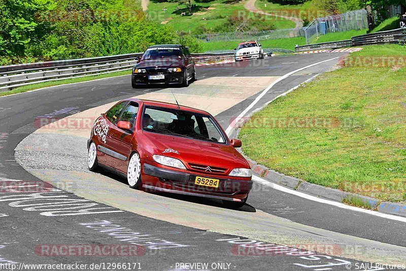
[[143, 132], [162, 155], [184, 163], [228, 168], [250, 168], [244, 157], [231, 145], [211, 143], [178, 136]]

